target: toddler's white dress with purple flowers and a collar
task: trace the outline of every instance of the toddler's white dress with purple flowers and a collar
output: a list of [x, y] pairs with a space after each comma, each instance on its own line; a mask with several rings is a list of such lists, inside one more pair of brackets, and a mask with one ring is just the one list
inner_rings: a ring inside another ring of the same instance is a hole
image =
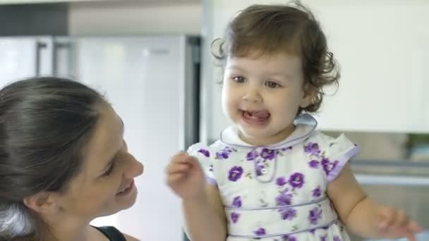
[[350, 240], [326, 190], [359, 147], [316, 131], [310, 115], [295, 125], [286, 140], [267, 147], [246, 144], [231, 127], [214, 144], [188, 149], [219, 188], [227, 241]]

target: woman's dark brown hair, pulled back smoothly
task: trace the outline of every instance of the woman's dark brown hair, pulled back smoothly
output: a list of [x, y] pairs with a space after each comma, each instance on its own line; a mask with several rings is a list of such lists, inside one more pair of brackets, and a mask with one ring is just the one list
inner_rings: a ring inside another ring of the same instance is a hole
[[32, 78], [0, 90], [0, 240], [40, 238], [23, 199], [64, 192], [80, 171], [104, 97], [73, 80]]

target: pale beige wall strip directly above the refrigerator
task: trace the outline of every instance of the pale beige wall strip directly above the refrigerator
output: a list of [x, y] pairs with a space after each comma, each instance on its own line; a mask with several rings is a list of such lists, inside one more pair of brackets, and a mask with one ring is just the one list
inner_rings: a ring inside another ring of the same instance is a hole
[[[174, 2], [174, 4], [171, 4]], [[200, 1], [100, 1], [70, 4], [71, 35], [200, 34]]]

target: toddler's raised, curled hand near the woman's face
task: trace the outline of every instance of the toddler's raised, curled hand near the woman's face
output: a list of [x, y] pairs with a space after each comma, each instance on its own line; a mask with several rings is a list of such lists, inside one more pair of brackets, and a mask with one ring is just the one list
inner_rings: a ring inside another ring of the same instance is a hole
[[198, 199], [205, 194], [205, 177], [198, 160], [186, 152], [171, 158], [167, 166], [167, 183], [182, 199]]

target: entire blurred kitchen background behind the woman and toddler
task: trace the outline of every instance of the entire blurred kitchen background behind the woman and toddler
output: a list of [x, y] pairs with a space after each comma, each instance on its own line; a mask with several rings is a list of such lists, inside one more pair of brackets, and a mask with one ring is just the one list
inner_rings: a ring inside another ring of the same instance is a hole
[[[210, 43], [236, 11], [274, 2], [286, 1], [0, 0], [0, 85], [56, 74], [106, 92], [147, 172], [132, 209], [94, 224], [183, 240], [180, 202], [162, 173], [170, 154], [212, 142], [227, 125]], [[364, 189], [429, 229], [429, 2], [303, 3], [342, 66], [339, 90], [316, 116], [320, 129], [361, 145], [352, 168]]]

